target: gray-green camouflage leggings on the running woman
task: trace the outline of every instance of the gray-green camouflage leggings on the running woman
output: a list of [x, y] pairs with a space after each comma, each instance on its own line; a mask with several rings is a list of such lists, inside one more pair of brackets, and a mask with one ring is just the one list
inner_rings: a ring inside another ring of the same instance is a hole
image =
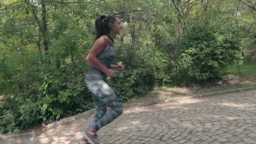
[[[96, 115], [89, 127], [96, 131], [114, 121], [123, 113], [123, 106], [105, 79], [106, 77], [101, 74], [86, 74], [85, 76], [86, 86], [92, 93], [92, 99], [96, 107]], [[108, 113], [106, 113], [107, 106], [111, 109]]]

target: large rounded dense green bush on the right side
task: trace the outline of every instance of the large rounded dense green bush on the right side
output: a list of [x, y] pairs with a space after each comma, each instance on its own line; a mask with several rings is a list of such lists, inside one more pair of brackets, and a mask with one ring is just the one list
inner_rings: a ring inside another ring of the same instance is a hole
[[236, 32], [208, 21], [191, 23], [178, 45], [177, 72], [187, 83], [219, 79], [243, 59]]

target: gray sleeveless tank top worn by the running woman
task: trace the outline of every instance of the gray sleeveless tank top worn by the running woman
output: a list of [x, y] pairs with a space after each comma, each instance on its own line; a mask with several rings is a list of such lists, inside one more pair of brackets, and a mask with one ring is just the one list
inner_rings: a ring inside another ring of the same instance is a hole
[[[108, 40], [108, 44], [109, 44], [108, 50], [102, 51], [97, 56], [98, 61], [100, 61], [106, 68], [110, 68], [111, 63], [112, 63], [113, 59], [115, 58], [115, 51], [114, 51], [114, 45], [113, 45], [114, 40], [112, 38], [110, 38], [109, 36], [108, 36], [108, 39], [109, 39]], [[93, 67], [92, 65], [90, 65], [90, 68], [86, 74], [101, 74], [104, 77], [107, 77], [107, 75], [105, 73], [103, 73], [102, 71]]]

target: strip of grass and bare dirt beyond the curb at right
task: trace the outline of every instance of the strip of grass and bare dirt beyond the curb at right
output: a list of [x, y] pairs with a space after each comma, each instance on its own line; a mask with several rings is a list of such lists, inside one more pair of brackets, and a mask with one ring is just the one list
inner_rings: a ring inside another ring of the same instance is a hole
[[228, 91], [231, 89], [256, 87], [256, 44], [247, 47], [247, 53], [252, 53], [249, 62], [232, 67], [229, 69], [229, 75], [224, 80], [204, 83], [203, 85], [178, 87], [162, 86], [155, 88], [152, 92], [144, 97], [134, 97], [124, 104], [143, 103], [146, 101], [155, 101], [168, 98], [184, 97], [188, 95], [197, 95], [219, 91]]

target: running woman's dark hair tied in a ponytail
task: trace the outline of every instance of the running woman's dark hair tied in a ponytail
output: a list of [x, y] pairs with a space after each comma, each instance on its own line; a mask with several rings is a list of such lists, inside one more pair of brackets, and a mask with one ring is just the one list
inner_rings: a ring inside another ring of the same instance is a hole
[[113, 23], [117, 16], [109, 15], [109, 16], [98, 16], [95, 20], [95, 28], [96, 28], [96, 39], [100, 38], [102, 35], [108, 35], [110, 28], [109, 23]]

